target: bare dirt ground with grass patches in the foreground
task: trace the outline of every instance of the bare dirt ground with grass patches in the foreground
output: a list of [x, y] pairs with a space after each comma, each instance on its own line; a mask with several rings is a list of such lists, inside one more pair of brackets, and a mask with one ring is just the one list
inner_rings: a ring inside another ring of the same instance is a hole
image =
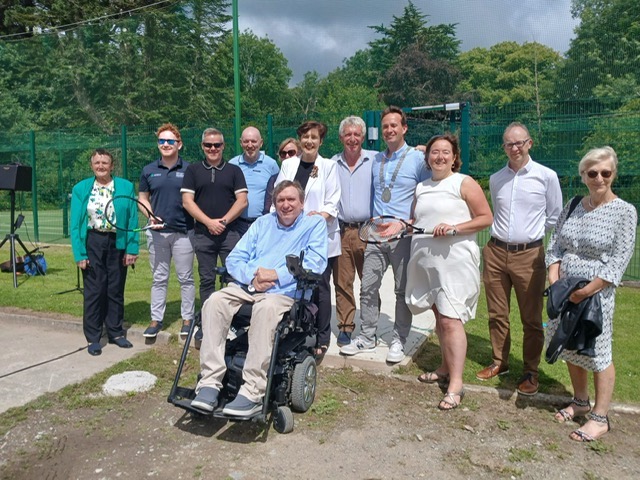
[[[173, 362], [176, 348], [154, 361]], [[638, 415], [613, 414], [611, 433], [579, 444], [568, 438], [578, 425], [554, 423], [553, 406], [509, 392], [469, 389], [460, 408], [440, 412], [440, 389], [414, 377], [319, 374], [312, 409], [286, 435], [192, 418], [167, 403], [168, 374], [150, 393], [117, 400], [67, 388], [8, 412], [24, 420], [3, 429], [0, 478], [640, 478]]]

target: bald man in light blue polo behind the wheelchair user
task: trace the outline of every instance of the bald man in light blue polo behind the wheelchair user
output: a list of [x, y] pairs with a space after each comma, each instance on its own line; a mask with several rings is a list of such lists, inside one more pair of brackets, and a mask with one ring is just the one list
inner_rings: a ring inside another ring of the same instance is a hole
[[229, 160], [229, 164], [242, 169], [249, 189], [249, 206], [238, 218], [241, 235], [244, 235], [249, 226], [262, 215], [269, 179], [280, 171], [276, 161], [260, 151], [262, 143], [260, 130], [255, 127], [245, 128], [240, 137], [243, 153]]

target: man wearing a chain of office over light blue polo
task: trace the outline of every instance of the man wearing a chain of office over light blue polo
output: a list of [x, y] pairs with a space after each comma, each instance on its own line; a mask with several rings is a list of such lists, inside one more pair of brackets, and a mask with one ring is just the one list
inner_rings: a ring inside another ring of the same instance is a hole
[[[373, 215], [393, 215], [410, 219], [416, 185], [426, 180], [430, 172], [427, 170], [424, 154], [407, 145], [404, 140], [408, 125], [407, 116], [402, 109], [387, 107], [382, 112], [381, 124], [382, 137], [387, 149], [378, 153], [373, 160]], [[360, 288], [361, 332], [349, 345], [340, 349], [343, 355], [357, 355], [375, 350], [380, 317], [378, 294], [382, 277], [391, 265], [396, 309], [387, 362], [398, 363], [404, 359], [404, 344], [413, 319], [404, 299], [407, 284], [406, 266], [410, 253], [410, 237], [382, 245], [367, 245]]]

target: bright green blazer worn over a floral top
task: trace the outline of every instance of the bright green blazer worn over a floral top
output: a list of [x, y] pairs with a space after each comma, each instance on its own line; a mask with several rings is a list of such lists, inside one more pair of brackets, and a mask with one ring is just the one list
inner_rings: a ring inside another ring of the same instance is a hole
[[[71, 248], [73, 249], [73, 258], [76, 263], [88, 259], [87, 230], [89, 228], [89, 215], [87, 215], [87, 204], [89, 203], [89, 195], [91, 195], [94, 181], [95, 177], [86, 178], [76, 183], [71, 192]], [[114, 195], [136, 196], [133, 183], [129, 180], [113, 177], [113, 181]], [[128, 219], [131, 228], [137, 227], [138, 210], [135, 202], [131, 202], [129, 208], [120, 207], [120, 209], [117, 209], [116, 217]], [[137, 232], [116, 230], [116, 248], [124, 250], [129, 255], [138, 255], [138, 236]]]

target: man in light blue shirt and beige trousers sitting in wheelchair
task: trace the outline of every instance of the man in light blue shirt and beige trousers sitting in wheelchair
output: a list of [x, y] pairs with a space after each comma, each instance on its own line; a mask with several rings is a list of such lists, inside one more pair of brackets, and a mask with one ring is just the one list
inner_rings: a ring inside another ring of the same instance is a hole
[[201, 379], [191, 406], [212, 412], [226, 371], [225, 344], [233, 316], [243, 304], [253, 304], [249, 349], [238, 395], [222, 410], [250, 417], [262, 409], [267, 369], [276, 327], [294, 303], [296, 280], [286, 255], [304, 252], [303, 266], [321, 274], [327, 266], [327, 226], [320, 215], [305, 215], [304, 190], [298, 182], [282, 181], [274, 192], [276, 211], [258, 218], [231, 251], [226, 268], [233, 281], [214, 292], [202, 307]]

